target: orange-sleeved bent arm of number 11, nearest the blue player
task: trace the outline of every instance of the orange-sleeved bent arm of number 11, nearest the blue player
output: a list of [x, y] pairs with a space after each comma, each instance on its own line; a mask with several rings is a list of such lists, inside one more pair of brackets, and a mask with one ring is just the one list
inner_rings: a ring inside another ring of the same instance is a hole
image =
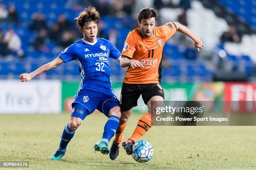
[[133, 32], [129, 32], [127, 35], [127, 38], [125, 40], [125, 44], [122, 51], [122, 57], [120, 60], [120, 66], [121, 67], [141, 67], [144, 68], [144, 66], [141, 64], [138, 60], [133, 60], [133, 53], [136, 50], [136, 37], [133, 35]]

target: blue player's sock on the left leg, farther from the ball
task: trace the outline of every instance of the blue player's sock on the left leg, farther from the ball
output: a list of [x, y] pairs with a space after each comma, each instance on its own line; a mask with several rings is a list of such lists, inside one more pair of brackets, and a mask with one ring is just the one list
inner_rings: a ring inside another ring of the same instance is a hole
[[73, 138], [75, 130], [69, 129], [69, 124], [67, 124], [64, 127], [62, 136], [61, 136], [61, 142], [59, 144], [59, 148], [57, 150], [61, 150], [62, 152], [66, 152], [67, 144], [69, 141]]

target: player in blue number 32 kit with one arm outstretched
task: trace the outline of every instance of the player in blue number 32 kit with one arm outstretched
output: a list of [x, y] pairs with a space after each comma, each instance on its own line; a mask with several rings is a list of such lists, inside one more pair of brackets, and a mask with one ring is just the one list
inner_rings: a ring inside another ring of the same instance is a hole
[[72, 102], [71, 118], [64, 127], [59, 148], [51, 155], [51, 160], [59, 160], [64, 156], [67, 144], [73, 138], [75, 130], [95, 109], [104, 113], [108, 121], [105, 124], [102, 139], [94, 145], [94, 148], [102, 154], [108, 154], [108, 142], [115, 135], [121, 117], [119, 101], [113, 93], [110, 82], [109, 63], [109, 57], [120, 62], [121, 53], [110, 41], [96, 38], [100, 15], [94, 7], [86, 8], [75, 19], [79, 25], [79, 31], [84, 35], [83, 39], [67, 47], [55, 60], [29, 74], [20, 75], [21, 81], [24, 82], [63, 62], [76, 60], [79, 66], [82, 81]]

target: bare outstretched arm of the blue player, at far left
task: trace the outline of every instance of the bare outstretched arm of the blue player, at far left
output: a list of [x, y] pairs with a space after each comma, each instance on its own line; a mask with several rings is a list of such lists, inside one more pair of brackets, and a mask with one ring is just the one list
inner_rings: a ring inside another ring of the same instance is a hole
[[27, 74], [27, 73], [23, 73], [20, 75], [20, 80], [22, 82], [24, 81], [29, 81], [31, 80], [33, 77], [36, 77], [37, 75], [41, 74], [42, 72], [46, 72], [49, 71], [53, 68], [58, 67], [59, 65], [61, 65], [64, 61], [61, 59], [61, 57], [57, 57], [56, 59], [52, 60], [51, 62], [48, 62], [47, 64], [43, 65], [42, 67], [38, 68], [37, 70]]

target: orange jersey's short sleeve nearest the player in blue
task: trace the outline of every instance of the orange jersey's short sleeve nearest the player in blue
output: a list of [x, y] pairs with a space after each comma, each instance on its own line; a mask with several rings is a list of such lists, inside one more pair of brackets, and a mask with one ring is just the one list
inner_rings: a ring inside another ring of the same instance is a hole
[[132, 32], [130, 32], [125, 40], [122, 55], [132, 58], [136, 50], [136, 39]]

